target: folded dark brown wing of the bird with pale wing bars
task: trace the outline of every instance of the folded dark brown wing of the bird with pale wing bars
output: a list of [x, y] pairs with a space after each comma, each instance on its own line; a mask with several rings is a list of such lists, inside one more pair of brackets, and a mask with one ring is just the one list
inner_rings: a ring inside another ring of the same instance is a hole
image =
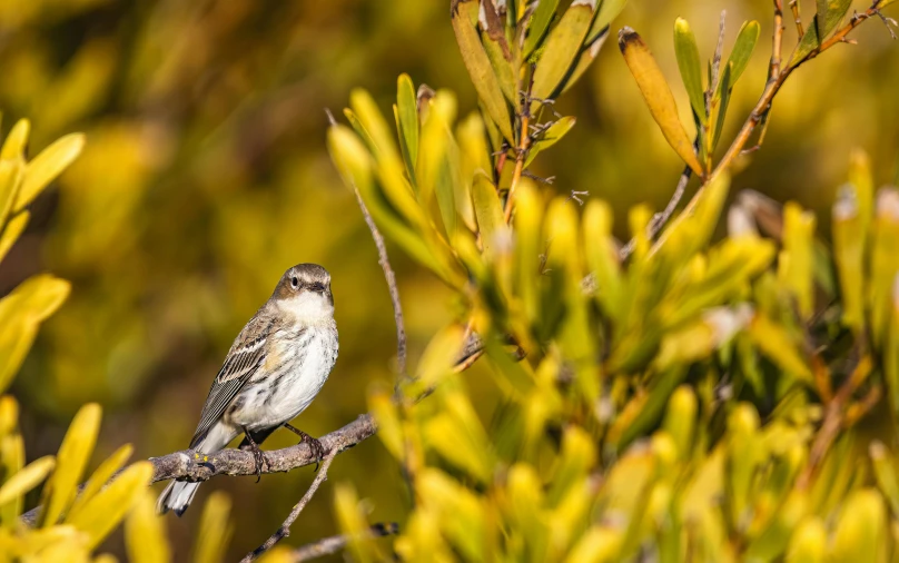
[[202, 406], [200, 422], [197, 432], [190, 441], [190, 447], [196, 445], [206, 436], [209, 428], [218, 422], [225, 409], [228, 408], [234, 397], [240, 392], [244, 385], [253, 377], [259, 366], [265, 362], [266, 338], [269, 335], [273, 323], [264, 318], [254, 318], [240, 335], [237, 337], [228, 357], [219, 369], [206, 404]]

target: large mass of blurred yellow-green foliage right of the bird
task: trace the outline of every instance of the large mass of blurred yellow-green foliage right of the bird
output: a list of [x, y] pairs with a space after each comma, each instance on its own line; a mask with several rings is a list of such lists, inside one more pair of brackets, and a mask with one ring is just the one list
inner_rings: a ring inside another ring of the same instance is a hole
[[[493, 184], [488, 149], [471, 134], [488, 130], [482, 117], [456, 127], [447, 91], [421, 113], [404, 108], [407, 80], [396, 108], [421, 119], [417, 146], [406, 131], [417, 124], [389, 132], [364, 91], [346, 110], [355, 131], [336, 125], [328, 136], [378, 225], [462, 304], [401, 401], [386, 388], [369, 396], [414, 494], [395, 542], [402, 559], [899, 554], [885, 445], [899, 413], [899, 191], [875, 198], [856, 158], [833, 213], [836, 247], [796, 204], [768, 236], [753, 225], [713, 241], [730, 188], [720, 174], [658, 245], [645, 237], [650, 210], [635, 208], [635, 251], [622, 263], [599, 200], [580, 209], [524, 178], [507, 226], [507, 180]], [[453, 374], [465, 326], [484, 338], [504, 397], [488, 427]], [[857, 431], [869, 414], [882, 423], [878, 439]], [[344, 530], [364, 537], [355, 493], [340, 488], [335, 502]], [[358, 540], [353, 553], [374, 560], [375, 549]]]

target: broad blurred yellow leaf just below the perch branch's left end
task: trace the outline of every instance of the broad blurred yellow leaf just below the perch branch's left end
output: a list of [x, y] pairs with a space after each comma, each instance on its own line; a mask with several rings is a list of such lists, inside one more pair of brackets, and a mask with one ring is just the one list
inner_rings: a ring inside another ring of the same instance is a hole
[[90, 546], [96, 547], [131, 510], [151, 477], [151, 463], [138, 462], [130, 465], [109, 486], [87, 501], [82, 510], [70, 514], [66, 522], [87, 532]]

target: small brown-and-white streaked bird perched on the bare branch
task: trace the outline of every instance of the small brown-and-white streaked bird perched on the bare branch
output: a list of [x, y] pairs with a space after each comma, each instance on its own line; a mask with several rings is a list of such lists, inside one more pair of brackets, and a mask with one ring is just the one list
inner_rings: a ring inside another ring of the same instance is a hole
[[[322, 391], [337, 350], [330, 275], [317, 264], [298, 264], [284, 273], [271, 297], [235, 338], [209, 389], [190, 448], [211, 454], [243, 434], [240, 447], [254, 453], [258, 481], [265, 463], [259, 444], [284, 426], [322, 460], [322, 444], [288, 423]], [[199, 485], [169, 483], [159, 495], [157, 512], [172, 510], [180, 516]]]

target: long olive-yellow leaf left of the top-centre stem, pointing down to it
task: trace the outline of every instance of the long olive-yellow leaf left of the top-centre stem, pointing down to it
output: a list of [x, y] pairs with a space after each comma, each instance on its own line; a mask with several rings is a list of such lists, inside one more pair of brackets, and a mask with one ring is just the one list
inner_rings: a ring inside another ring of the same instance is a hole
[[508, 142], [514, 144], [515, 137], [512, 134], [512, 121], [510, 120], [503, 91], [500, 88], [500, 81], [493, 71], [487, 53], [484, 51], [484, 46], [481, 45], [481, 37], [472, 23], [472, 17], [474, 17], [475, 21], [477, 19], [477, 10], [478, 2], [473, 0], [463, 0], [456, 7], [455, 13], [452, 14], [456, 42], [458, 42], [462, 60], [465, 68], [468, 69], [472, 83], [487, 115], [500, 128], [503, 137]]

